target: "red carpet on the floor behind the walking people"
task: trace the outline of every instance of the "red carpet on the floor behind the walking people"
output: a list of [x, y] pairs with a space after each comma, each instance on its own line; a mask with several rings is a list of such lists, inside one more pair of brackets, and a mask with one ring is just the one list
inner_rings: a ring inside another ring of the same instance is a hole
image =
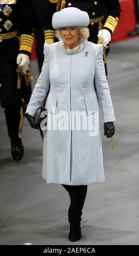
[[[112, 0], [111, 0], [112, 1]], [[127, 33], [135, 27], [134, 4], [132, 0], [121, 0], [121, 18], [112, 36], [112, 42], [133, 38]], [[137, 36], [134, 36], [137, 37]], [[35, 43], [34, 43], [35, 44]], [[35, 47], [31, 53], [31, 60], [36, 59]]]

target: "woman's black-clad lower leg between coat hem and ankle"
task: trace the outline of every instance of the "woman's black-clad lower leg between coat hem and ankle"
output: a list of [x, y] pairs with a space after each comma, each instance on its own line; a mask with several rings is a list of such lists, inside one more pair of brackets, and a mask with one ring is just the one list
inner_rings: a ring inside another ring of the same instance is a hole
[[61, 184], [68, 192], [71, 204], [68, 209], [68, 222], [80, 224], [82, 210], [87, 193], [87, 185], [71, 186]]

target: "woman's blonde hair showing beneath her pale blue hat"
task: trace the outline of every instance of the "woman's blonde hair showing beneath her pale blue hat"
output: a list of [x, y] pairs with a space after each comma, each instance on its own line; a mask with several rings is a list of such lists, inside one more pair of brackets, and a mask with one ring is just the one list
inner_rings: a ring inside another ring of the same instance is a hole
[[[84, 42], [87, 40], [87, 38], [89, 38], [90, 36], [90, 33], [89, 33], [89, 28], [87, 27], [76, 27], [79, 29], [79, 42]], [[55, 36], [56, 38], [58, 38], [59, 40], [62, 38], [62, 35], [61, 35], [61, 29], [58, 28], [56, 29], [55, 31]]]

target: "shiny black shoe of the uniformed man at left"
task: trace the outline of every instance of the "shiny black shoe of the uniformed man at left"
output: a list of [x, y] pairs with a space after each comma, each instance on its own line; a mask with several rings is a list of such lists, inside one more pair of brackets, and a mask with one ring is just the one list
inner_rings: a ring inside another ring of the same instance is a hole
[[24, 155], [24, 147], [22, 141], [11, 143], [11, 155], [15, 161], [20, 161]]

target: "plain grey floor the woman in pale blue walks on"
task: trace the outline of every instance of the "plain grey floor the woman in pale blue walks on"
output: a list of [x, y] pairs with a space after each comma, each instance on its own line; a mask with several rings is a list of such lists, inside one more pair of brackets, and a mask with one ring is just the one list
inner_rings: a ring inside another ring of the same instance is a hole
[[[102, 136], [106, 181], [88, 186], [83, 236], [74, 245], [139, 245], [139, 38], [112, 44], [108, 62], [116, 114], [115, 149]], [[36, 62], [31, 66], [36, 81]], [[39, 132], [24, 119], [25, 154], [16, 163], [10, 155], [2, 108], [0, 114], [0, 244], [71, 245], [69, 197], [61, 185], [46, 184], [41, 178]]]

